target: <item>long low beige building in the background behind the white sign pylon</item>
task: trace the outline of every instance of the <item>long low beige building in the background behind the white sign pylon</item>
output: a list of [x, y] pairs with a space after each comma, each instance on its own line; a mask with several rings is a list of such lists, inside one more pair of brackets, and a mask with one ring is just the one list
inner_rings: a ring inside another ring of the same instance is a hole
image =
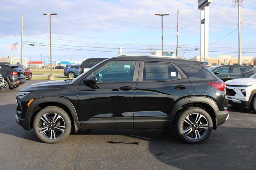
[[[200, 61], [200, 56], [195, 56], [190, 60]], [[244, 65], [254, 65], [256, 59], [252, 56], [242, 56], [242, 64]], [[232, 58], [232, 55], [219, 55], [218, 58], [209, 58], [209, 65], [238, 65], [238, 58]]]

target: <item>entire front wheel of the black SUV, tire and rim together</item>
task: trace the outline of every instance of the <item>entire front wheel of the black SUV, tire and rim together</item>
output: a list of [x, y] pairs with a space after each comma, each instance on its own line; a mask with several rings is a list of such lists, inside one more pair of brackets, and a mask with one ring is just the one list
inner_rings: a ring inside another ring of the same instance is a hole
[[41, 141], [58, 143], [70, 134], [71, 121], [66, 111], [60, 107], [48, 106], [36, 114], [33, 128]]

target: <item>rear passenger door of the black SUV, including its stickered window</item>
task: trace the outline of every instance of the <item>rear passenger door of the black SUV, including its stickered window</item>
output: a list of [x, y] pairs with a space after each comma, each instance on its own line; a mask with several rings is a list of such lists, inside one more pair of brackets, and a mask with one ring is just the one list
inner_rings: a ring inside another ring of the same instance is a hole
[[174, 103], [190, 96], [191, 84], [172, 63], [140, 62], [134, 98], [134, 128], [170, 127]]

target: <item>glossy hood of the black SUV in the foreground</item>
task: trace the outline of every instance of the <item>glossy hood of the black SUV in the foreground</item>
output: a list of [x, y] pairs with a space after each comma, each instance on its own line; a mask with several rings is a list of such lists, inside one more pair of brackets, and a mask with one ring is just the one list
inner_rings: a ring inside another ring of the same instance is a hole
[[63, 88], [64, 86], [68, 85], [68, 83], [65, 80], [56, 80], [56, 81], [48, 81], [48, 82], [40, 82], [36, 84], [31, 84], [25, 88], [22, 88], [20, 90], [21, 92], [28, 92], [28, 91], [34, 91], [34, 90], [47, 90], [52, 88]]

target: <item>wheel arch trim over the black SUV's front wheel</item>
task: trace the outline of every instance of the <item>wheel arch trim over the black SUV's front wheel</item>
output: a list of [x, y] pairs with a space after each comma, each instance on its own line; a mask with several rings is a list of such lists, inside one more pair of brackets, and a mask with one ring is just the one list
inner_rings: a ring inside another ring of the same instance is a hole
[[58, 96], [58, 97], [56, 97], [56, 96], [40, 97], [40, 98], [35, 99], [30, 104], [30, 106], [28, 107], [28, 110], [27, 110], [27, 114], [26, 114], [26, 119], [28, 120], [28, 123], [29, 123], [28, 129], [32, 128], [33, 120], [34, 120], [36, 113], [38, 113], [38, 111], [40, 111], [41, 109], [43, 109], [47, 106], [58, 106], [58, 107], [64, 109], [68, 113], [71, 121], [74, 122], [74, 123], [72, 123], [72, 126], [74, 125], [74, 131], [77, 132], [78, 130], [81, 129], [74, 105], [70, 102], [70, 100], [68, 100], [64, 97], [60, 97], [60, 96]]

